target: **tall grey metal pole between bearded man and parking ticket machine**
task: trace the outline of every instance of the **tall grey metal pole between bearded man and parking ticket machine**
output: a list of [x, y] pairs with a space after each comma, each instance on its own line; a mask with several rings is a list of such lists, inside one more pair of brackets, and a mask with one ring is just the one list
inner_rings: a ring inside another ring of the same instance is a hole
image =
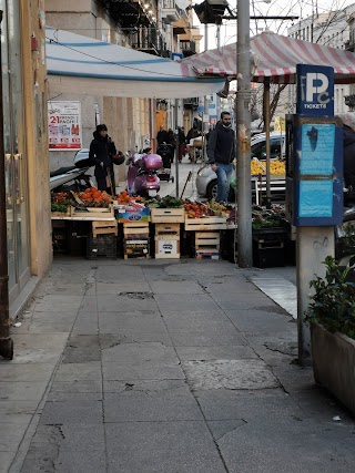
[[251, 183], [251, 53], [250, 2], [237, 0], [237, 260], [241, 268], [253, 266]]

